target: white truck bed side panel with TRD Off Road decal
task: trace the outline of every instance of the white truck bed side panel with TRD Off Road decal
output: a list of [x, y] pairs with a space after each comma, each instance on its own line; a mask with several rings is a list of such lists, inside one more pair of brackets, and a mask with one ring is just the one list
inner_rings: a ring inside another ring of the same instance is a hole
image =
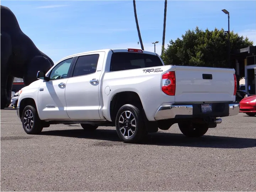
[[[104, 117], [111, 121], [110, 103], [114, 95], [123, 91], [136, 92], [142, 101], [146, 117], [149, 121], [155, 121], [154, 115], [162, 103], [174, 102], [174, 96], [168, 96], [161, 90], [161, 77], [166, 71], [174, 71], [175, 66], [159, 66], [162, 72], [147, 72], [143, 69], [106, 72], [102, 83], [102, 98]], [[160, 70], [160, 71], [161, 71]], [[110, 87], [110, 94], [105, 93], [106, 87]]]

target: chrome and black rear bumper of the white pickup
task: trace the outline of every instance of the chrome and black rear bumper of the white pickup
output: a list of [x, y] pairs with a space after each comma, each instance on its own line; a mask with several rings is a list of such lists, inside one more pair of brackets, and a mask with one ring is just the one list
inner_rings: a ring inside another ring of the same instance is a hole
[[155, 120], [173, 118], [226, 117], [239, 113], [239, 103], [211, 103], [212, 112], [201, 112], [201, 104], [162, 104], [155, 113]]

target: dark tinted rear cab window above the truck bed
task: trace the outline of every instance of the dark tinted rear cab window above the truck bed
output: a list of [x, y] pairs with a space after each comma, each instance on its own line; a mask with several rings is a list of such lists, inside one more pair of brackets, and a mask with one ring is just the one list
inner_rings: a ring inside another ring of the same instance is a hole
[[113, 53], [110, 62], [110, 71], [140, 69], [163, 65], [157, 55], [142, 53]]

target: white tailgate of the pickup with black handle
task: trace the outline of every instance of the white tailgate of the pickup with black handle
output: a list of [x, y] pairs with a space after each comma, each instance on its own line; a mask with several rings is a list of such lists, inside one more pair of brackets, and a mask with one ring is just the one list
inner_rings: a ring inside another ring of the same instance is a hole
[[235, 101], [234, 69], [176, 66], [175, 102]]

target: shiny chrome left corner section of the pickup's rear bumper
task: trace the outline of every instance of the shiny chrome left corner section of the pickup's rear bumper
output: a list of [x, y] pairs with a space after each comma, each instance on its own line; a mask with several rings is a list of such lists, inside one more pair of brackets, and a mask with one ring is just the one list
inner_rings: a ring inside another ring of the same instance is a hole
[[193, 105], [163, 104], [155, 114], [155, 120], [171, 119], [176, 115], [192, 115]]

